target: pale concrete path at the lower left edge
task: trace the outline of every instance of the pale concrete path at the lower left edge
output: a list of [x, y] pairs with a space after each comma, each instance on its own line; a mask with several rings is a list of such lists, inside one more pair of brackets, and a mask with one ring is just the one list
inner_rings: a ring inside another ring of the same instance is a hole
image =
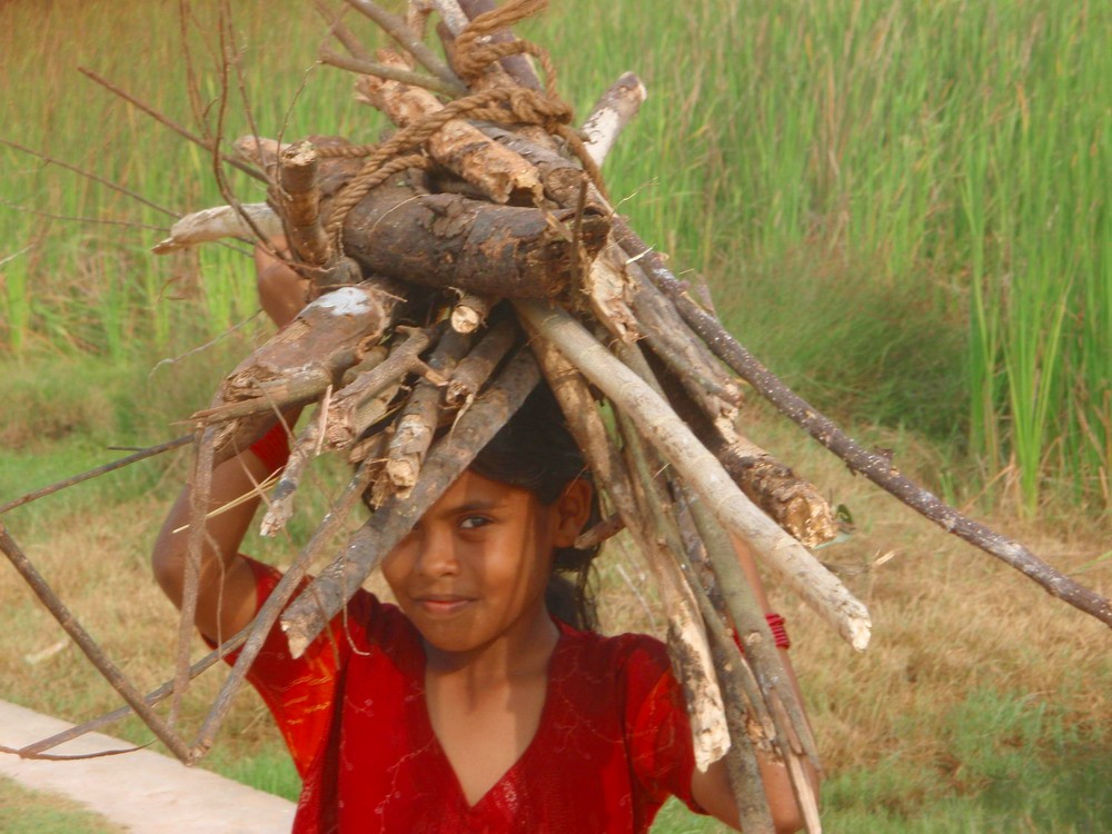
[[[71, 726], [0, 701], [0, 744], [21, 747]], [[99, 733], [52, 753], [129, 747]], [[286, 834], [294, 804], [150, 751], [76, 762], [27, 761], [0, 753], [0, 775], [63, 794], [135, 834]]]

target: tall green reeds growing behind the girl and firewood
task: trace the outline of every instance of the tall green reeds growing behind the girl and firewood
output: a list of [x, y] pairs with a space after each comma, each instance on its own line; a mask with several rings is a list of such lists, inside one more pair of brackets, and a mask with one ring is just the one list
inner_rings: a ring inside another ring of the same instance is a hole
[[[260, 132], [377, 137], [347, 76], [314, 64], [309, 3], [232, 6]], [[183, 40], [171, 0], [3, 3], [3, 136], [175, 212], [221, 202], [207, 153], [73, 69], [211, 127], [215, 7]], [[559, 0], [522, 27], [580, 113], [620, 71], [646, 80], [612, 190], [758, 355], [823, 407], [959, 439], [1027, 512], [1048, 487], [1112, 502], [1110, 29], [1106, 3], [1062, 0]], [[234, 85], [226, 138], [245, 110]], [[9, 148], [0, 168], [8, 353], [167, 353], [252, 310], [228, 250], [156, 259], [158, 230], [103, 225], [162, 212]]]

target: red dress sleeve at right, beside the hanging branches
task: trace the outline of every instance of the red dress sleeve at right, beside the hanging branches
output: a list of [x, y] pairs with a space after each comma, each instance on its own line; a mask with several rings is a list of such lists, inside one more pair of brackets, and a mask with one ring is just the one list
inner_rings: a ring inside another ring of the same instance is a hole
[[634, 775], [655, 801], [676, 796], [706, 813], [692, 796], [695, 754], [683, 691], [657, 641], [646, 638], [626, 662], [626, 743]]

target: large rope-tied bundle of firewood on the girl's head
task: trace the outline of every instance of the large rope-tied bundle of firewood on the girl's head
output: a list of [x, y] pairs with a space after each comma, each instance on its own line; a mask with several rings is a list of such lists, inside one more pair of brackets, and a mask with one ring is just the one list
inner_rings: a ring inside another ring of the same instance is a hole
[[[221, 647], [242, 652], [191, 746], [139, 709], [141, 696], [121, 689], [178, 755], [193, 759], [211, 745], [270, 628], [280, 623], [291, 651], [304, 651], [542, 378], [606, 509], [580, 544], [624, 528], [643, 554], [668, 615], [697, 762], [727, 756], [745, 831], [772, 830], [754, 748], [787, 763], [811, 831], [820, 824], [803, 761], [817, 759], [731, 536], [856, 649], [868, 642], [870, 619], [808, 550], [836, 533], [818, 490], [741, 434], [738, 377], [853, 469], [1112, 623], [1108, 600], [845, 437], [737, 345], [706, 299], [694, 300], [614, 212], [599, 175], [645, 90], [624, 76], [583, 127], [573, 127], [544, 50], [510, 32], [544, 0], [499, 9], [492, 0], [410, 0], [406, 19], [370, 0], [346, 2], [396, 47], [369, 53], [318, 4], [347, 52], [322, 49], [321, 60], [354, 72], [359, 101], [396, 130], [374, 146], [338, 137], [240, 139], [235, 163], [268, 182], [268, 201], [245, 206], [229, 195], [228, 206], [186, 217], [156, 247], [229, 236], [270, 246], [281, 236], [312, 299], [193, 415], [198, 514], [214, 464], [247, 448], [291, 407], [315, 404], [291, 436], [285, 471], [262, 485], [265, 535], [289, 519], [314, 458], [340, 454], [356, 467], [251, 628]], [[434, 12], [438, 51], [426, 38]], [[451, 430], [438, 433], [446, 424]], [[370, 518], [298, 593], [365, 495]], [[200, 522], [197, 515], [190, 525], [192, 559]], [[212, 662], [188, 666], [196, 600], [196, 575], [187, 570], [177, 679], [142, 699], [145, 707], [180, 694]]]

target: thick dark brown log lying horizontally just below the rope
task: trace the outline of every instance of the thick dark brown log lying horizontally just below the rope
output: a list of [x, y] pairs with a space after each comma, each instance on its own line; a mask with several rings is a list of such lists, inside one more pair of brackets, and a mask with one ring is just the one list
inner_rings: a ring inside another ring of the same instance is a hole
[[[344, 248], [368, 274], [505, 298], [567, 298], [577, 258], [594, 258], [609, 221], [588, 210], [582, 247], [562, 228], [574, 210], [493, 206], [459, 195], [418, 195], [390, 180], [351, 209]], [[553, 222], [553, 221], [556, 222]]]

